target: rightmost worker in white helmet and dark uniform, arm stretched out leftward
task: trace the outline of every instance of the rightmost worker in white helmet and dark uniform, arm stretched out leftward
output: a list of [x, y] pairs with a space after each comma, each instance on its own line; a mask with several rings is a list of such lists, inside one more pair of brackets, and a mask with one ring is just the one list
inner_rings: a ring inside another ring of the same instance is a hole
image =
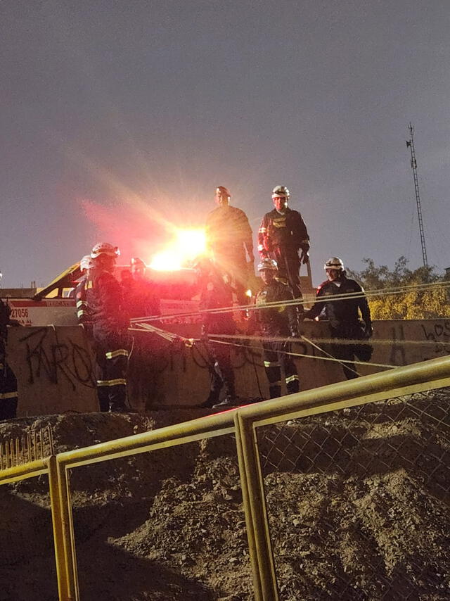
[[[339, 257], [331, 257], [323, 265], [326, 270], [324, 281], [316, 293], [316, 302], [309, 311], [304, 312], [304, 317], [314, 320], [323, 311], [330, 322], [331, 336], [334, 339], [354, 340], [355, 343], [333, 343], [330, 354], [337, 359], [347, 361], [342, 364], [345, 377], [352, 379], [358, 377], [354, 358], [361, 361], [371, 360], [373, 348], [367, 341], [373, 334], [371, 310], [368, 306], [364, 289], [354, 279], [347, 278], [344, 263]], [[333, 300], [335, 295], [360, 293], [359, 298], [346, 298]], [[359, 317], [361, 313], [362, 320]], [[361, 342], [359, 342], [361, 341]]]

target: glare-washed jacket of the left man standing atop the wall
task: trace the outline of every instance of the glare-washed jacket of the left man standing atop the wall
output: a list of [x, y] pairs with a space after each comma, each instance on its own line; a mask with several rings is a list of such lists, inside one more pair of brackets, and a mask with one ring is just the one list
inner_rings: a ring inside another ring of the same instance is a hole
[[237, 207], [217, 207], [207, 215], [206, 239], [217, 255], [245, 256], [245, 250], [253, 253], [252, 228], [247, 215]]

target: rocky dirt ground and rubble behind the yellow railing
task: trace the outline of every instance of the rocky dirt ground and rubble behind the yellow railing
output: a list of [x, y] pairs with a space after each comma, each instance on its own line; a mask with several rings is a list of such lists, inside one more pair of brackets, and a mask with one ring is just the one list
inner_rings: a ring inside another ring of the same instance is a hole
[[[448, 600], [449, 391], [259, 431], [281, 599]], [[56, 452], [202, 412], [55, 415]], [[250, 600], [236, 446], [222, 436], [72, 470], [84, 601]], [[55, 600], [46, 476], [0, 486], [0, 601]]]

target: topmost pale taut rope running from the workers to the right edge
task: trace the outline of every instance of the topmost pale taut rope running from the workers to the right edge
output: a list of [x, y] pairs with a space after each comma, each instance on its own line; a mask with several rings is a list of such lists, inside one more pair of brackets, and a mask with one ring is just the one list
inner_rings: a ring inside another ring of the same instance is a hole
[[[372, 298], [376, 296], [392, 296], [395, 294], [404, 294], [407, 292], [422, 292], [427, 291], [429, 289], [434, 288], [442, 288], [446, 289], [450, 287], [450, 281], [442, 281], [442, 282], [433, 282], [432, 284], [413, 284], [411, 286], [399, 286], [397, 288], [392, 289], [383, 289], [383, 290], [374, 290], [374, 291], [366, 291], [366, 292], [349, 292], [345, 294], [335, 294], [333, 296], [327, 296], [326, 298], [315, 299], [319, 302], [330, 303], [330, 302], [338, 302], [340, 300], [349, 300], [349, 299], [357, 299], [357, 298]], [[233, 311], [240, 310], [261, 310], [261, 309], [270, 309], [270, 308], [278, 308], [285, 306], [298, 306], [298, 305], [306, 305], [311, 304], [310, 300], [304, 300], [303, 298], [293, 298], [292, 300], [276, 300], [272, 303], [264, 303], [264, 305], [230, 305], [228, 307], [219, 307], [215, 309], [198, 309], [195, 311], [189, 311], [184, 313], [174, 313], [172, 315], [150, 315], [148, 317], [134, 317], [130, 321], [131, 323], [140, 324], [142, 322], [152, 322], [152, 321], [160, 321], [160, 320], [169, 320], [169, 319], [179, 319], [181, 317], [197, 317], [198, 315], [206, 315], [206, 314], [216, 314], [216, 313], [227, 313]]]

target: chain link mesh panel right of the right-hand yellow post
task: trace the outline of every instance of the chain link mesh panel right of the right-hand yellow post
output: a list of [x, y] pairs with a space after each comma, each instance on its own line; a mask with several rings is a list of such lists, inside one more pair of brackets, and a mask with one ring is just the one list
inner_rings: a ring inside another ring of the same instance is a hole
[[450, 598], [450, 388], [257, 427], [280, 599]]

